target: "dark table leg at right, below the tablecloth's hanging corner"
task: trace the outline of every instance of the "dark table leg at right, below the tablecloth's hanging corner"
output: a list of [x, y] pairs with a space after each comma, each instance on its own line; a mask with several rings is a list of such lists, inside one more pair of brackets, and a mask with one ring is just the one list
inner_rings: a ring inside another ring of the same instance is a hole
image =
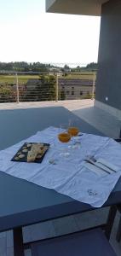
[[112, 225], [114, 223], [114, 218], [116, 216], [116, 213], [117, 213], [117, 207], [116, 206], [110, 207], [108, 218], [107, 218], [106, 231], [105, 231], [105, 235], [107, 236], [108, 240], [110, 239], [110, 236], [111, 236]]

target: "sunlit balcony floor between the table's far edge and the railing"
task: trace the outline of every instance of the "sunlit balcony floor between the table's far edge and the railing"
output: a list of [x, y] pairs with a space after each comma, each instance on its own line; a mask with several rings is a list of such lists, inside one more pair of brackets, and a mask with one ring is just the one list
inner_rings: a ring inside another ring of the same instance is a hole
[[106, 111], [95, 108], [94, 101], [90, 99], [60, 102], [14, 102], [0, 104], [0, 110], [53, 107], [63, 107], [68, 109], [107, 137], [119, 137], [121, 120], [118, 120]]

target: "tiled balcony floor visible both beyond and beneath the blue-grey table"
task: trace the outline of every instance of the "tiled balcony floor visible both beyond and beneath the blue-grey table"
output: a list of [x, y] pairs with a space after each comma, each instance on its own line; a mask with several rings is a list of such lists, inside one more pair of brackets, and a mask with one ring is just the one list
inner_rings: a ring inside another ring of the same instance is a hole
[[[115, 119], [110, 114], [93, 108], [94, 102], [91, 100], [83, 101], [65, 101], [65, 102], [27, 102], [27, 103], [8, 103], [0, 104], [0, 109], [14, 108], [45, 108], [49, 106], [63, 106], [81, 119], [84, 119], [90, 125], [95, 126], [98, 130], [106, 134], [108, 137], [118, 137], [120, 131], [120, 121]], [[24, 241], [33, 241], [49, 236], [58, 236], [76, 230], [82, 230], [86, 227], [102, 224], [107, 219], [107, 209], [95, 210], [77, 214], [74, 216], [60, 218], [53, 221], [48, 221], [43, 224], [35, 224], [23, 229]], [[117, 255], [121, 255], [121, 242], [118, 243], [115, 239], [118, 228], [119, 213], [115, 219], [112, 229], [111, 243]], [[0, 234], [0, 256], [13, 256], [13, 233], [12, 231], [3, 232]], [[31, 251], [26, 250], [26, 256], [31, 256]]]

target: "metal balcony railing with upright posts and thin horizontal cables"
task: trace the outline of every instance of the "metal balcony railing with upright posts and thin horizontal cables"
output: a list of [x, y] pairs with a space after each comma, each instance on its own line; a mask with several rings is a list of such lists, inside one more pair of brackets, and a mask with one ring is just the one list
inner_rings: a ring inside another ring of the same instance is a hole
[[96, 73], [0, 73], [0, 103], [95, 97]]

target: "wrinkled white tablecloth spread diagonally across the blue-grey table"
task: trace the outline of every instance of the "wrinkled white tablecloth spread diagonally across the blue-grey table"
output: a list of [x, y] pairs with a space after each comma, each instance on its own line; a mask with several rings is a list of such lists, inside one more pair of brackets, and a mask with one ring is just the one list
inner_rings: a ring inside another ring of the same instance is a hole
[[[81, 144], [72, 147], [74, 138], [69, 143], [60, 143], [57, 138], [59, 132], [59, 128], [49, 127], [0, 151], [0, 171], [55, 189], [61, 194], [89, 203], [93, 207], [101, 207], [121, 175], [121, 145], [108, 137], [84, 134], [78, 137], [78, 142]], [[41, 164], [11, 161], [25, 142], [50, 143], [49, 151]], [[68, 154], [65, 154], [66, 151]], [[118, 167], [118, 172], [97, 175], [85, 165], [86, 155], [95, 155], [97, 159], [108, 160]], [[55, 165], [49, 163], [51, 160], [55, 160]]]

